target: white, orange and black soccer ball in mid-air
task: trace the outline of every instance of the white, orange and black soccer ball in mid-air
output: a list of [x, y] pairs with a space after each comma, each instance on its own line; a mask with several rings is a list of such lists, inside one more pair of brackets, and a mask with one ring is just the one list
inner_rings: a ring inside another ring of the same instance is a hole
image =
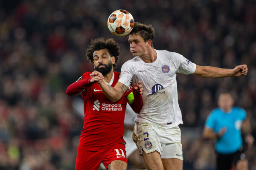
[[131, 32], [133, 26], [134, 19], [128, 11], [119, 9], [108, 17], [108, 29], [114, 35], [125, 36]]

